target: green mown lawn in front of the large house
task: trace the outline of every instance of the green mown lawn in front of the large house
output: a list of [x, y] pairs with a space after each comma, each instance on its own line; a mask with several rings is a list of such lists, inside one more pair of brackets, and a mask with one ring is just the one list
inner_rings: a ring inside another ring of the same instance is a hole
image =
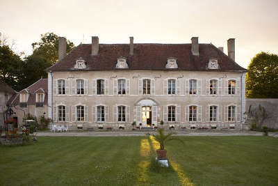
[[278, 185], [278, 139], [180, 138], [184, 144], [166, 146], [173, 169], [154, 169], [149, 137], [39, 137], [31, 146], [0, 146], [0, 185], [181, 185], [181, 177], [194, 185]]

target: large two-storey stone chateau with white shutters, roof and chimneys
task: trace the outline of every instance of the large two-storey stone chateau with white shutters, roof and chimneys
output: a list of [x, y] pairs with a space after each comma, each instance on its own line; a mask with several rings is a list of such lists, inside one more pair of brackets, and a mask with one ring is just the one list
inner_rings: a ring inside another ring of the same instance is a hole
[[223, 48], [199, 44], [81, 44], [47, 69], [48, 114], [77, 127], [240, 127], [245, 73], [235, 39]]

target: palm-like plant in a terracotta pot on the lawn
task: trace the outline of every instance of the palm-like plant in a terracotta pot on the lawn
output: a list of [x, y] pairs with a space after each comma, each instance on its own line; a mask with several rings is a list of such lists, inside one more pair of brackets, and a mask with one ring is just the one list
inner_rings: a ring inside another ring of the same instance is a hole
[[[158, 160], [166, 159], [167, 150], [165, 150], [165, 143], [167, 143], [167, 141], [170, 141], [170, 140], [179, 140], [179, 141], [181, 141], [180, 139], [172, 137], [173, 134], [174, 134], [173, 132], [165, 134], [162, 128], [158, 128], [158, 134], [153, 135], [154, 139], [160, 145], [160, 148], [158, 150], [156, 150]], [[183, 141], [181, 141], [181, 142], [183, 143]]]

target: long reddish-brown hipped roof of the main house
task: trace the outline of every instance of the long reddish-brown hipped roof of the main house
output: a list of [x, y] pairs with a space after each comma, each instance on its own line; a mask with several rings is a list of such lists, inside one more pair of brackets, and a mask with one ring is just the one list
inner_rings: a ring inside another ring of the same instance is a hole
[[[212, 44], [199, 44], [199, 56], [191, 53], [191, 44], [134, 44], [134, 54], [129, 55], [129, 44], [99, 44], [99, 54], [91, 55], [91, 44], [81, 44], [47, 71], [79, 71], [74, 69], [76, 59], [85, 60], [83, 70], [208, 70], [209, 59], [218, 59], [216, 71], [247, 71]], [[128, 69], [117, 69], [117, 58], [126, 57]], [[177, 58], [177, 69], [166, 69], [167, 59]]]

